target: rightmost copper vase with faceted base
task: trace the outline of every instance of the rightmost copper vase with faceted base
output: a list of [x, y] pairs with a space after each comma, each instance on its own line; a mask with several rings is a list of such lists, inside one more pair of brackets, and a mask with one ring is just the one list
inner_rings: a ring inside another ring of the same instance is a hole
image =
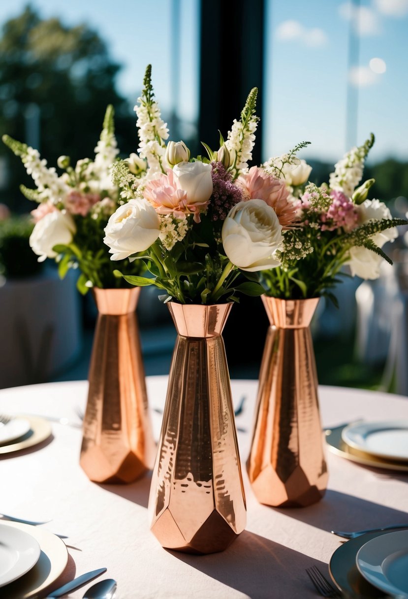
[[260, 503], [309, 506], [328, 479], [309, 327], [319, 298], [262, 299], [270, 327], [246, 468]]

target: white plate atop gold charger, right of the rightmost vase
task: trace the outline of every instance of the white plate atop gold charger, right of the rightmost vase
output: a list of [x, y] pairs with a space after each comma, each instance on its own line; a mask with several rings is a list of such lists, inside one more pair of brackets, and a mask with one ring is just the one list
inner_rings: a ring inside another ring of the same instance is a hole
[[408, 420], [350, 424], [343, 429], [342, 439], [379, 458], [408, 461]]

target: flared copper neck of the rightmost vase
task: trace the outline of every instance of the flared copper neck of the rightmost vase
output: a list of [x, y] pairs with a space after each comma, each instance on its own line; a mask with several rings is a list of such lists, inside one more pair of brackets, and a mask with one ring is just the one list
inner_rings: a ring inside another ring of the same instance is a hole
[[271, 325], [281, 329], [302, 329], [310, 325], [319, 298], [279, 299], [262, 296]]

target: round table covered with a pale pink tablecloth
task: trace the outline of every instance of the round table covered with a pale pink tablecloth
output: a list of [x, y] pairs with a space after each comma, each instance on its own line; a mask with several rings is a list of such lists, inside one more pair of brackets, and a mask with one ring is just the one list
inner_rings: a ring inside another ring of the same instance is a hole
[[[167, 377], [147, 378], [151, 407], [163, 407]], [[257, 381], [233, 380], [242, 462], [250, 444]], [[32, 413], [77, 419], [87, 382], [47, 383], [0, 391], [0, 413]], [[397, 395], [320, 387], [324, 426], [364, 417], [408, 419], [408, 400]], [[152, 410], [154, 432], [161, 416]], [[32, 520], [52, 518], [44, 528], [69, 537], [69, 562], [59, 579], [106, 566], [118, 582], [117, 599], [294, 599], [316, 597], [305, 568], [327, 563], [342, 542], [330, 530], [358, 530], [408, 522], [408, 475], [362, 467], [328, 453], [330, 479], [322, 501], [304, 509], [258, 504], [243, 476], [246, 530], [223, 553], [193, 556], [163, 549], [147, 523], [150, 477], [131, 485], [90, 482], [78, 465], [81, 431], [53, 424], [53, 439], [39, 449], [0, 460], [0, 510]], [[70, 597], [80, 598], [84, 589]]]

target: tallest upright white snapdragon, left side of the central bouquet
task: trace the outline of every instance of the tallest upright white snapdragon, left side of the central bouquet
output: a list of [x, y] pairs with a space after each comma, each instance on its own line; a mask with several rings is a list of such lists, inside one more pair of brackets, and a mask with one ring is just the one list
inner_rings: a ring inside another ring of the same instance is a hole
[[165, 168], [165, 140], [169, 137], [167, 123], [163, 122], [157, 102], [145, 104], [138, 98], [134, 110], [138, 116], [136, 126], [139, 128], [139, 155], [148, 163], [148, 177], [154, 173], [162, 173]]

